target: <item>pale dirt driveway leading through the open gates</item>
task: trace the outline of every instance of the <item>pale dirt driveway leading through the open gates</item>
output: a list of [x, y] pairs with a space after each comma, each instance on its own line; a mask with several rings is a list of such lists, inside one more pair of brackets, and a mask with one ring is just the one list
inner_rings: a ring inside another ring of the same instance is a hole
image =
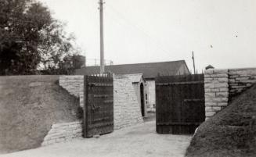
[[139, 124], [123, 130], [115, 130], [99, 138], [78, 139], [50, 145], [6, 157], [140, 157], [183, 156], [191, 140], [190, 136], [160, 135], [155, 132], [155, 121]]

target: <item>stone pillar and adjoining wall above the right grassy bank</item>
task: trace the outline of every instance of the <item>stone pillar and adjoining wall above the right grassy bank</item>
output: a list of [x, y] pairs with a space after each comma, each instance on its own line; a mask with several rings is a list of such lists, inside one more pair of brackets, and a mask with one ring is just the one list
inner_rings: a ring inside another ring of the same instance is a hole
[[206, 120], [224, 109], [236, 95], [256, 83], [256, 68], [206, 70], [204, 74]]

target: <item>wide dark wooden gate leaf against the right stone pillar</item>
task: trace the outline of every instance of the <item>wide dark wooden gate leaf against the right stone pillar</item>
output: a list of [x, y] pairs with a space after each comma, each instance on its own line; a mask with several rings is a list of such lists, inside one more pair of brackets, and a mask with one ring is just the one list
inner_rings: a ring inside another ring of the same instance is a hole
[[204, 74], [157, 77], [158, 134], [193, 134], [204, 111]]

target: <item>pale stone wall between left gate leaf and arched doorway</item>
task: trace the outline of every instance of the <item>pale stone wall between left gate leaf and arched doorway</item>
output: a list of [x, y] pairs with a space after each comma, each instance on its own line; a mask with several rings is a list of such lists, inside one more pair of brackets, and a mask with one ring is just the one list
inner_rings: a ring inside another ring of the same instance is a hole
[[142, 123], [140, 106], [129, 75], [114, 76], [114, 129]]

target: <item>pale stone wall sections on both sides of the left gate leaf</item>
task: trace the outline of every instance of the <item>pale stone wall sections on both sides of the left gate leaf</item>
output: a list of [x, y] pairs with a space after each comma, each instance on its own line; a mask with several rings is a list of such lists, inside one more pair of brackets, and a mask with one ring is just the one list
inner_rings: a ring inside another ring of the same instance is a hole
[[[70, 95], [80, 98], [84, 105], [84, 76], [59, 77], [59, 85], [69, 91]], [[132, 76], [117, 75], [114, 77], [114, 129], [121, 129], [142, 123], [142, 114], [132, 85]], [[45, 136], [42, 146], [82, 137], [81, 121], [56, 123]]]

